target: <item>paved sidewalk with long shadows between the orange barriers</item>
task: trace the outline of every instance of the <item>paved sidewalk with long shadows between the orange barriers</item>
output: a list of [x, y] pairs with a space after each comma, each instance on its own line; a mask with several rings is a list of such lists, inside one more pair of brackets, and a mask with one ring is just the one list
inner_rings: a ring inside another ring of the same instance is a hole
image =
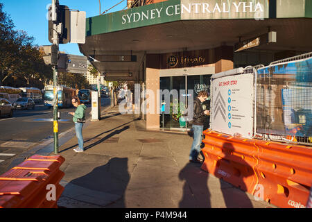
[[146, 130], [118, 107], [84, 126], [83, 137], [83, 153], [73, 151], [76, 137], [59, 148], [59, 207], [274, 207], [189, 163], [189, 135]]

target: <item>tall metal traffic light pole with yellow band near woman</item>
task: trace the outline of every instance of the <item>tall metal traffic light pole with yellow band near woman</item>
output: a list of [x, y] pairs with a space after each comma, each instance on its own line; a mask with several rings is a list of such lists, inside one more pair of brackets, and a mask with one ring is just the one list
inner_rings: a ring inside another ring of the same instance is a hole
[[[57, 33], [57, 24], [56, 24], [56, 1], [52, 0], [52, 20], [53, 20], [53, 45], [57, 46], [58, 49], [58, 33]], [[55, 53], [55, 51], [53, 51]], [[58, 53], [58, 51], [57, 51]], [[53, 135], [54, 135], [54, 153], [58, 153], [58, 65], [53, 66], [53, 95], [54, 95], [54, 104], [53, 104]]]

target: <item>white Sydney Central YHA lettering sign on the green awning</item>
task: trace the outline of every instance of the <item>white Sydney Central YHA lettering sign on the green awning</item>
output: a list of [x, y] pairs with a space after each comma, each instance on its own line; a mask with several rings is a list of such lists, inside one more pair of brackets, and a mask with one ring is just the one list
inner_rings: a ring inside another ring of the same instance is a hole
[[181, 19], [264, 19], [268, 17], [268, 1], [190, 1], [128, 12], [122, 15], [122, 24], [144, 22], [150, 19], [180, 15]]

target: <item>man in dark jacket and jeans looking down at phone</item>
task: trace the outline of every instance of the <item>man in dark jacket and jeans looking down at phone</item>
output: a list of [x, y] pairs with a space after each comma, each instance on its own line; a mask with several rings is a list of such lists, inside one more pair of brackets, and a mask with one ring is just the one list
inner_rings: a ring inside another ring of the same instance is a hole
[[189, 153], [189, 162], [201, 163], [198, 160], [198, 154], [200, 153], [200, 144], [202, 144], [202, 131], [204, 130], [204, 121], [207, 115], [210, 114], [209, 110], [202, 109], [202, 103], [206, 101], [208, 94], [206, 91], [200, 91], [198, 96], [194, 100], [193, 106], [193, 120], [191, 121], [193, 128], [193, 144], [191, 146], [191, 152]]

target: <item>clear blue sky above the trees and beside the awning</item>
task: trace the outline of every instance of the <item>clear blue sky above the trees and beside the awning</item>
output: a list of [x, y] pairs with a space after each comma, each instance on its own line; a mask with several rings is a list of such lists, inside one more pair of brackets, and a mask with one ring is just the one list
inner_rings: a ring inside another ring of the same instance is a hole
[[[101, 11], [105, 11], [122, 0], [101, 0]], [[34, 43], [37, 45], [49, 45], [48, 20], [46, 14], [52, 0], [0, 0], [3, 3], [3, 10], [10, 15], [15, 24], [16, 30], [24, 30], [28, 35], [35, 37]], [[85, 11], [87, 17], [99, 15], [100, 4], [98, 0], [59, 0], [60, 5], [68, 6], [71, 9]], [[112, 8], [107, 13], [123, 10], [127, 5], [124, 0], [118, 6]], [[83, 56], [78, 44], [60, 44], [60, 51], [68, 54]]]

